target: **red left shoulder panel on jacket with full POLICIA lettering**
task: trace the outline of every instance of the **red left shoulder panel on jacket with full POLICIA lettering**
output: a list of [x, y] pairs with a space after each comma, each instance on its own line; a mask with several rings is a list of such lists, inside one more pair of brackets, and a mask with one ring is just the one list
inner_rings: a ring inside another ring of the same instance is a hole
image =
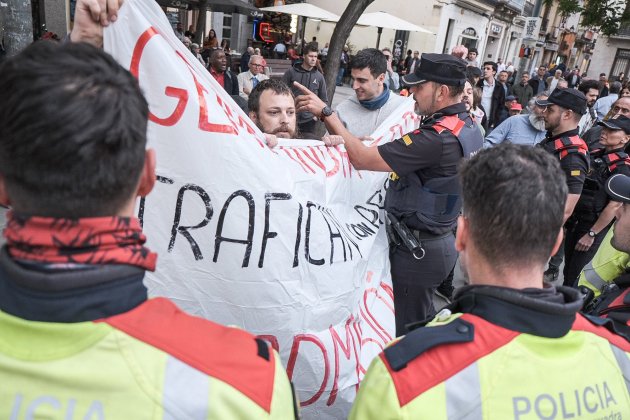
[[517, 331], [491, 324], [475, 315], [463, 314], [461, 319], [475, 326], [475, 339], [470, 343], [434, 347], [398, 372], [394, 372], [384, 354], [380, 354], [396, 387], [401, 407], [520, 335]]

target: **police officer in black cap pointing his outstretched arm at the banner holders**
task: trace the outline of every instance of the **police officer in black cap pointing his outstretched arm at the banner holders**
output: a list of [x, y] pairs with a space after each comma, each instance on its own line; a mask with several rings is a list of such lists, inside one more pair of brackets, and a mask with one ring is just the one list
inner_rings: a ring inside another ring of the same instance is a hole
[[461, 103], [466, 63], [448, 54], [423, 54], [403, 77], [427, 116], [418, 130], [379, 147], [366, 147], [337, 115], [305, 88], [297, 111], [319, 115], [330, 133], [343, 136], [357, 169], [392, 172], [385, 209], [396, 238], [390, 249], [396, 334], [435, 313], [432, 295], [457, 260], [453, 229], [461, 209], [457, 166], [479, 150], [483, 138]]

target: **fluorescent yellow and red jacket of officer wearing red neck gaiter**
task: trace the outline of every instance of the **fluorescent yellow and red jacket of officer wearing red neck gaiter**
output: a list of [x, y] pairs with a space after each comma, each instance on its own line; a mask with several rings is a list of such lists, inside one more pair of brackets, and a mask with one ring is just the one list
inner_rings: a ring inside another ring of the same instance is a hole
[[291, 419], [278, 355], [166, 299], [97, 322], [0, 312], [2, 419]]

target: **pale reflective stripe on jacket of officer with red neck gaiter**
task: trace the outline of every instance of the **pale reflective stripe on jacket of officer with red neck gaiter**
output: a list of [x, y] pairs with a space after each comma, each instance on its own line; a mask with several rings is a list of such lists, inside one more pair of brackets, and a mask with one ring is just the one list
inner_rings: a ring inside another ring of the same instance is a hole
[[210, 377], [169, 356], [164, 372], [164, 420], [208, 418]]

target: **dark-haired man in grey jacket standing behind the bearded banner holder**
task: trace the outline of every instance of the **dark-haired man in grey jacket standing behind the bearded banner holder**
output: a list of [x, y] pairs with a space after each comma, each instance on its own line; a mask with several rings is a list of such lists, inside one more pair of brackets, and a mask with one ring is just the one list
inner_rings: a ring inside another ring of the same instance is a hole
[[[288, 69], [282, 80], [291, 87], [294, 96], [300, 95], [302, 92], [293, 87], [293, 82], [298, 82], [302, 86], [306, 86], [311, 92], [315, 93], [319, 99], [328, 102], [328, 94], [326, 93], [326, 82], [324, 75], [317, 70], [317, 47], [308, 44], [304, 48], [304, 60], [297, 62]], [[298, 129], [302, 138], [317, 139], [317, 131], [322, 124], [310, 112], [300, 112], [297, 115]], [[321, 136], [321, 135], [320, 135]]]

